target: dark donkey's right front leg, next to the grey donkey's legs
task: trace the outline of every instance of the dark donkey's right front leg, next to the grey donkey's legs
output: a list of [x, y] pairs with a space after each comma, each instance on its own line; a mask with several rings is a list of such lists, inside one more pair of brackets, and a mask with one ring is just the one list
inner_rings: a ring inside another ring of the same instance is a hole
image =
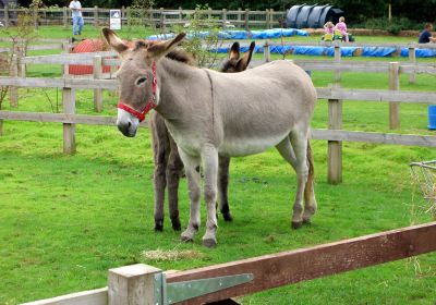
[[180, 159], [178, 147], [172, 138], [170, 138], [170, 147], [171, 152], [168, 157], [167, 164], [168, 203], [172, 229], [175, 231], [180, 231], [181, 224], [179, 218], [179, 180], [180, 173], [183, 169], [183, 163]]

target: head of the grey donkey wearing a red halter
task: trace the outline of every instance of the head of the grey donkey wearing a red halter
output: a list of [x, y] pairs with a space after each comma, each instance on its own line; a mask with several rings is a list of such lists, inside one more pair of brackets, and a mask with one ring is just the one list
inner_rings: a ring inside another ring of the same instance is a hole
[[138, 40], [133, 48], [129, 48], [109, 28], [104, 28], [102, 34], [108, 45], [121, 57], [121, 66], [117, 72], [120, 88], [117, 125], [123, 135], [132, 137], [145, 114], [159, 102], [156, 62], [173, 50], [185, 34], [157, 44]]

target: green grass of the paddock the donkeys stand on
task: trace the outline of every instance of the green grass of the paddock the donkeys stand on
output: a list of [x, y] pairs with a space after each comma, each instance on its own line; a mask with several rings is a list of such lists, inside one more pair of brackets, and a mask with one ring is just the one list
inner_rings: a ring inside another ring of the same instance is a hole
[[[88, 26], [89, 32], [90, 26]], [[40, 30], [47, 30], [44, 27]], [[61, 35], [53, 32], [53, 36]], [[391, 39], [391, 37], [387, 38]], [[31, 66], [33, 76], [59, 68]], [[316, 86], [332, 73], [314, 72]], [[387, 88], [387, 75], [343, 73], [342, 86]], [[434, 90], [435, 77], [417, 75], [405, 90]], [[56, 111], [52, 89], [21, 89], [19, 111]], [[51, 101], [48, 101], [47, 95]], [[105, 93], [104, 114], [116, 115], [117, 98]], [[10, 110], [5, 101], [3, 108]], [[15, 109], [13, 109], [15, 110]], [[90, 91], [77, 91], [77, 113], [94, 114]], [[326, 127], [319, 100], [313, 126]], [[401, 105], [400, 133], [426, 130], [425, 105]], [[346, 130], [388, 132], [388, 106], [343, 103]], [[192, 269], [301, 248], [432, 220], [410, 176], [409, 162], [436, 159], [431, 148], [343, 143], [343, 183], [326, 183], [327, 144], [313, 141], [319, 211], [313, 224], [290, 229], [295, 175], [278, 154], [235, 158], [231, 166], [232, 223], [219, 219], [218, 247], [179, 241], [166, 219], [153, 231], [150, 135], [135, 138], [114, 127], [77, 125], [77, 154], [62, 154], [62, 127], [5, 121], [0, 137], [0, 304], [17, 304], [105, 286], [109, 268], [144, 263], [161, 269]], [[397, 132], [397, 131], [396, 131]], [[180, 190], [181, 221], [187, 223], [186, 181]], [[202, 221], [205, 223], [203, 205]], [[242, 304], [435, 304], [436, 255], [420, 256], [240, 298]]]

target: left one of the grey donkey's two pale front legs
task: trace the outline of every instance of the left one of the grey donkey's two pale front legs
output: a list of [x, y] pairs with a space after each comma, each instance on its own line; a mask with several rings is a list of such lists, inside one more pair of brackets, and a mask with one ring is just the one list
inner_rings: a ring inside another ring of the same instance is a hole
[[179, 149], [180, 157], [183, 161], [186, 179], [187, 179], [187, 190], [191, 200], [191, 211], [190, 211], [190, 222], [187, 228], [180, 235], [181, 240], [184, 242], [190, 242], [194, 240], [195, 234], [198, 232], [201, 219], [199, 219], [199, 173], [196, 168], [199, 164], [199, 157], [193, 157], [185, 154], [183, 150]]

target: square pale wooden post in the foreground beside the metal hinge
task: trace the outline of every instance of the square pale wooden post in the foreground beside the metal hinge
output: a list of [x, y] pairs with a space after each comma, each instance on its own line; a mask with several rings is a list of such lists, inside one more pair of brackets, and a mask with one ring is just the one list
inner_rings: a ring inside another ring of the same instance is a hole
[[162, 289], [161, 283], [159, 285], [155, 280], [155, 276], [161, 272], [160, 269], [144, 264], [109, 269], [108, 304], [161, 304], [161, 300], [157, 300], [155, 293], [156, 290]]

